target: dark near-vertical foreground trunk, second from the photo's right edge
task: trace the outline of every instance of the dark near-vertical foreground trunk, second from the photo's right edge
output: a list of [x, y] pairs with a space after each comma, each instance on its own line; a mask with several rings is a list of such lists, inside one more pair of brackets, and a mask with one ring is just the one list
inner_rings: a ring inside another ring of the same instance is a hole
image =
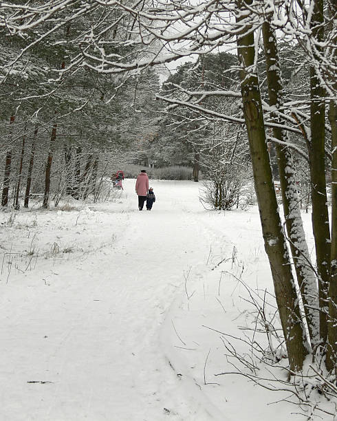
[[[314, 48], [323, 54], [323, 0], [314, 0], [311, 20]], [[320, 60], [315, 54], [315, 58]], [[320, 307], [320, 341], [327, 341], [327, 294], [330, 278], [331, 243], [327, 188], [325, 181], [325, 90], [320, 84], [315, 67], [310, 68], [310, 136], [308, 138], [309, 169], [312, 188], [312, 228], [314, 232], [318, 268]]]

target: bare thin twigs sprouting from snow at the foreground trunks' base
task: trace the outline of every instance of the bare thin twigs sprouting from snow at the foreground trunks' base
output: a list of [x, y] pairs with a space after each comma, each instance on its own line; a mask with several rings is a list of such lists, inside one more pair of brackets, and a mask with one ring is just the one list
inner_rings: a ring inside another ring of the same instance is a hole
[[[239, 327], [243, 337], [219, 332], [226, 349], [226, 360], [234, 371], [223, 371], [215, 376], [237, 374], [243, 376], [264, 389], [285, 392], [285, 396], [276, 402], [290, 402], [298, 407], [298, 412], [307, 420], [323, 419], [327, 415], [335, 420], [337, 414], [337, 385], [333, 375], [328, 374], [324, 357], [320, 352], [312, 356], [301, 372], [292, 371], [285, 363], [287, 352], [277, 310], [268, 303], [267, 290], [252, 290], [239, 279], [246, 288], [249, 299], [242, 298], [252, 305], [249, 313], [252, 327]], [[264, 339], [261, 338], [264, 336]], [[242, 350], [243, 349], [243, 350]], [[324, 418], [326, 419], [326, 418]]]

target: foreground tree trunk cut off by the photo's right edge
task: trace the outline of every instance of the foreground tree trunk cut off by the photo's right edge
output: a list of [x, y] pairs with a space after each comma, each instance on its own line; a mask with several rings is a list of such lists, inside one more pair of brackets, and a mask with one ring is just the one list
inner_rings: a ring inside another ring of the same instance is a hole
[[331, 124], [331, 279], [329, 285], [329, 318], [327, 323], [327, 369], [337, 377], [337, 104], [330, 102]]

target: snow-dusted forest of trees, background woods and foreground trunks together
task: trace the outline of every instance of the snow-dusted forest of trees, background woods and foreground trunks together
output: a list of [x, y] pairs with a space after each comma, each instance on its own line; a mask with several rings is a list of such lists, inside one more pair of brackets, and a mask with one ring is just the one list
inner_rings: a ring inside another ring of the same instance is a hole
[[[141, 167], [202, 184], [213, 212], [256, 204], [287, 382], [336, 399], [336, 12], [333, 0], [1, 2], [1, 212], [104, 202], [116, 171]], [[269, 345], [261, 361], [277, 364]]]

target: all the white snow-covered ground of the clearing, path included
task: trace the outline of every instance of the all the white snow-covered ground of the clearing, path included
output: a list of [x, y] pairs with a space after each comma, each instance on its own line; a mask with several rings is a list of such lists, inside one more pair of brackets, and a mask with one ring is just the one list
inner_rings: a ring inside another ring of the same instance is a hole
[[257, 208], [211, 212], [197, 183], [153, 181], [140, 212], [134, 183], [0, 214], [0, 420], [286, 420], [298, 409], [271, 403], [287, 393], [215, 376], [234, 371], [219, 332], [252, 325], [237, 279], [272, 292]]

